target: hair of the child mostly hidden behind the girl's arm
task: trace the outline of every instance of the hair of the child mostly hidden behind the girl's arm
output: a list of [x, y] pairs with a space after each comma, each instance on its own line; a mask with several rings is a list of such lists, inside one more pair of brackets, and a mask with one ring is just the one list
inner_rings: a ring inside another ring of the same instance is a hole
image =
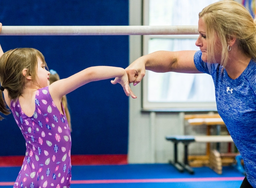
[[[53, 82], [58, 81], [59, 79], [60, 79], [59, 74], [57, 74], [57, 72], [54, 71], [54, 70], [50, 70], [50, 78], [49, 78], [50, 84], [52, 84]], [[70, 113], [69, 113], [69, 109], [68, 109], [67, 96], [66, 95], [64, 95], [62, 97], [61, 102], [63, 104], [64, 110], [65, 110], [65, 113], [66, 113], [67, 122], [68, 122], [68, 125], [69, 125], [69, 128], [70, 128], [70, 131], [72, 131], [71, 117], [70, 117]]]

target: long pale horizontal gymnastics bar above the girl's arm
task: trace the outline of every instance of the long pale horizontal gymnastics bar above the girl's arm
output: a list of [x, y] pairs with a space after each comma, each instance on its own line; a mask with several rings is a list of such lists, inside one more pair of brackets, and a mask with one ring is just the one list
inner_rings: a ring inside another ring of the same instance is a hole
[[197, 26], [2, 26], [0, 35], [193, 35]]

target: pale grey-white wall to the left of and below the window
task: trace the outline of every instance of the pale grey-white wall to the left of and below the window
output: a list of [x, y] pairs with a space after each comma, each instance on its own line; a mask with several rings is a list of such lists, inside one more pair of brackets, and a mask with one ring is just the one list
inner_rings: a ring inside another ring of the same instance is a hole
[[[129, 3], [130, 25], [142, 25], [142, 0]], [[140, 56], [142, 36], [130, 36], [130, 63]], [[142, 112], [141, 88], [141, 83], [131, 86], [138, 98], [130, 98], [128, 162], [167, 163], [173, 158], [173, 147], [165, 136], [184, 134], [183, 113]]]

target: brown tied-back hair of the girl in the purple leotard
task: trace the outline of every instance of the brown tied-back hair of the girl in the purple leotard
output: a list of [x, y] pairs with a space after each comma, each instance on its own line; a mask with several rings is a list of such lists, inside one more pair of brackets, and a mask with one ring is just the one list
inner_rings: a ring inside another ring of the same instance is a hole
[[[32, 81], [38, 85], [38, 83], [36, 83], [38, 57], [41, 58], [42, 62], [47, 67], [42, 53], [33, 48], [11, 49], [0, 57], [0, 84], [8, 91], [8, 97], [10, 99], [17, 99], [22, 95], [27, 76], [31, 76]], [[23, 69], [27, 69], [25, 76], [23, 75]], [[3, 92], [1, 90], [0, 112], [5, 115], [10, 114], [4, 102]], [[2, 119], [3, 117], [0, 116], [0, 120]]]

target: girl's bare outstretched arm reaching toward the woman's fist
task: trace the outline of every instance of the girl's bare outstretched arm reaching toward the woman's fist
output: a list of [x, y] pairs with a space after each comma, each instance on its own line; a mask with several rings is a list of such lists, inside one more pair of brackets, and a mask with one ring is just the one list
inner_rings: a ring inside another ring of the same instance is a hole
[[56, 102], [60, 101], [63, 95], [76, 90], [89, 82], [115, 78], [111, 81], [113, 84], [119, 83], [123, 87], [127, 96], [132, 98], [136, 96], [132, 93], [129, 86], [128, 76], [125, 69], [112, 66], [93, 66], [72, 75], [71, 77], [61, 79], [49, 86], [51, 97]]

